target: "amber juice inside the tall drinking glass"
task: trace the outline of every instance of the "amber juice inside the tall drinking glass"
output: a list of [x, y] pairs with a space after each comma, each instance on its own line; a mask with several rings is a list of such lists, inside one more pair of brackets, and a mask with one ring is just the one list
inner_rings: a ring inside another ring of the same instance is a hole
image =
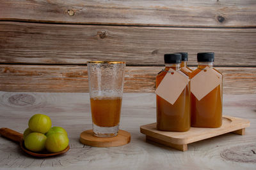
[[93, 124], [114, 127], [119, 124], [122, 97], [94, 97], [90, 99]]

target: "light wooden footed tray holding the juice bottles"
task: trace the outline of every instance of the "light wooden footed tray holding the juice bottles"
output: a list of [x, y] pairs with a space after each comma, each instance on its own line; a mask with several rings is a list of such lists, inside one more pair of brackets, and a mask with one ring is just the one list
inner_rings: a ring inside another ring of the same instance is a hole
[[222, 125], [218, 128], [191, 127], [187, 132], [158, 131], [156, 123], [142, 125], [140, 132], [146, 139], [170, 146], [177, 150], [188, 150], [188, 144], [228, 132], [244, 135], [245, 128], [250, 126], [250, 121], [242, 118], [223, 116]]

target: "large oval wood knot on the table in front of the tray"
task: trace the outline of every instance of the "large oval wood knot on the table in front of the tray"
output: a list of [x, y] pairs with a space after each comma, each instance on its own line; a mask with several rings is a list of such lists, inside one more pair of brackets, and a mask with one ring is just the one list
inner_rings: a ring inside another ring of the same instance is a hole
[[223, 159], [234, 162], [252, 162], [256, 163], [255, 144], [233, 146], [220, 153]]

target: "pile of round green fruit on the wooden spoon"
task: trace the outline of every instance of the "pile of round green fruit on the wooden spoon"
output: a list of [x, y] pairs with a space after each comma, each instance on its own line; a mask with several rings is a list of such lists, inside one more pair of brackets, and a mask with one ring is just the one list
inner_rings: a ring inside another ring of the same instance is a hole
[[47, 150], [61, 152], [68, 146], [68, 134], [62, 127], [52, 127], [51, 118], [36, 114], [29, 119], [28, 128], [23, 133], [24, 145], [33, 152]]

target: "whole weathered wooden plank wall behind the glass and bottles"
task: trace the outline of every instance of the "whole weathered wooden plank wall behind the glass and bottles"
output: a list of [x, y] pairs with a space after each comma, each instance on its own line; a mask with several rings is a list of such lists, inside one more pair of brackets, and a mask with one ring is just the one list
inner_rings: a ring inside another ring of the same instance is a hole
[[256, 93], [254, 0], [0, 4], [0, 90], [88, 92], [88, 60], [124, 60], [125, 92], [154, 92], [164, 53], [215, 52], [224, 92]]

